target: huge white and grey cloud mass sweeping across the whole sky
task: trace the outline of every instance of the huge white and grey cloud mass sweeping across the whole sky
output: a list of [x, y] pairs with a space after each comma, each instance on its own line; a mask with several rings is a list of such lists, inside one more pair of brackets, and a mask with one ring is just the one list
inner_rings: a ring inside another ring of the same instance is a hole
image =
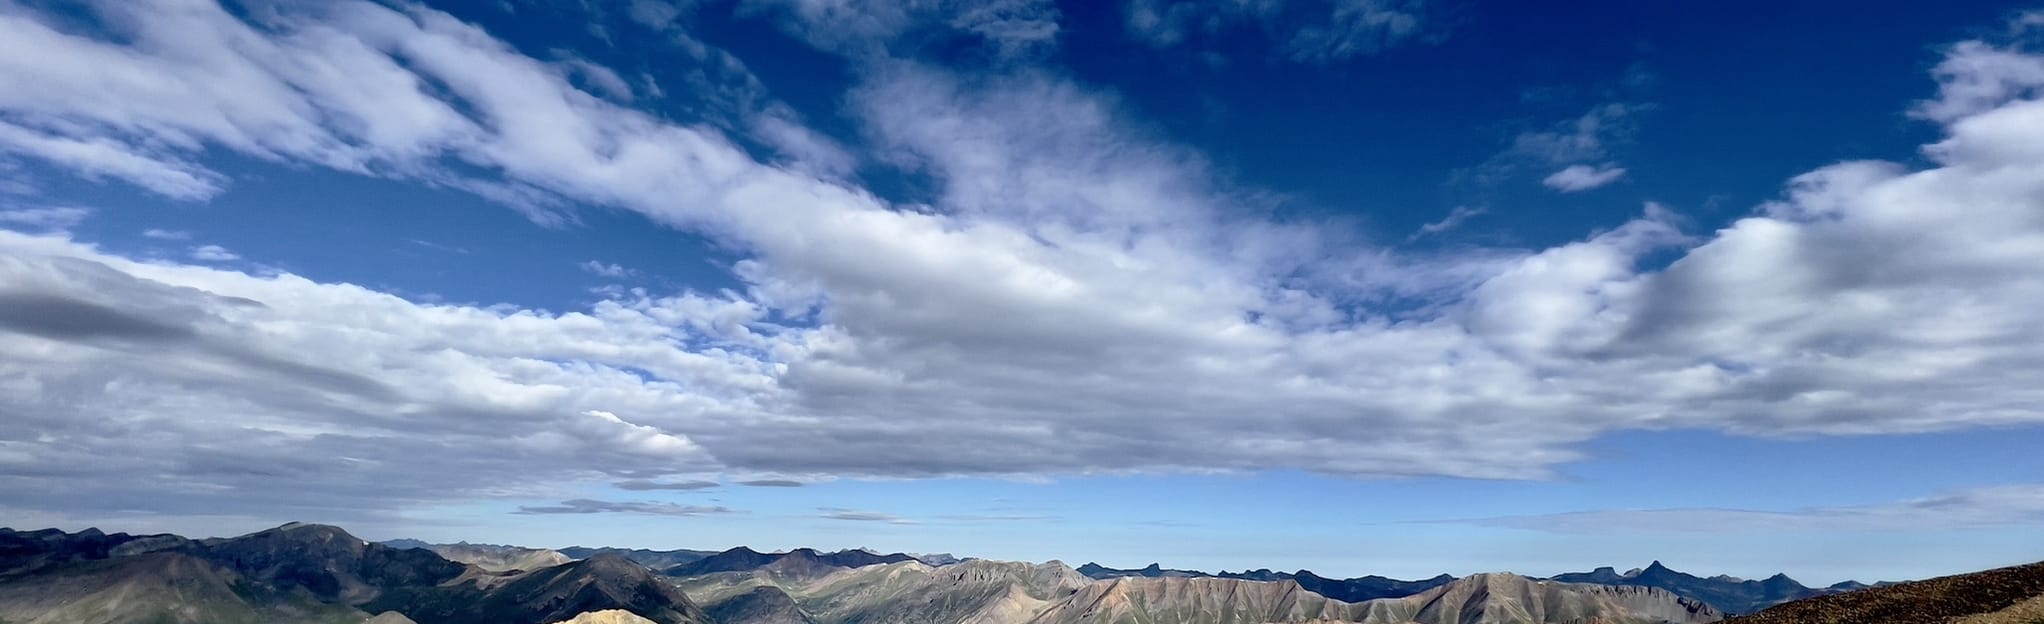
[[0, 505], [372, 514], [713, 473], [1539, 479], [1619, 430], [2044, 421], [2044, 61], [2015, 47], [1950, 49], [1927, 170], [1827, 166], [1715, 233], [1650, 207], [1549, 250], [1412, 256], [1257, 217], [1047, 72], [865, 59], [848, 102], [877, 158], [940, 180], [891, 207], [803, 158], [842, 153], [758, 158], [425, 8], [96, 10], [117, 37], [0, 8], [0, 82], [39, 84], [0, 92], [0, 151], [170, 200], [229, 192], [200, 158], [227, 149], [542, 223], [634, 211], [740, 250], [748, 288], [433, 305], [0, 231]]

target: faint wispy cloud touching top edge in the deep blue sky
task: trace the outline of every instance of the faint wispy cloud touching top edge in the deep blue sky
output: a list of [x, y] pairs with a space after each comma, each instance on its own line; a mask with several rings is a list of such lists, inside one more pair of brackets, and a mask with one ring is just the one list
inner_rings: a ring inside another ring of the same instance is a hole
[[1153, 47], [1200, 45], [1247, 27], [1261, 31], [1292, 61], [1331, 63], [1425, 39], [1427, 2], [1130, 0], [1126, 27], [1130, 37]]

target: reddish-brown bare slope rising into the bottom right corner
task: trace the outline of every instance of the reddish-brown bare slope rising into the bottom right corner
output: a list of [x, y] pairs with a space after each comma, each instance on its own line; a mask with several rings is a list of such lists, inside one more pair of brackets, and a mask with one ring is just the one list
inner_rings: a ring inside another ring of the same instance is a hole
[[[1725, 624], [2034, 624], [2044, 563], [1991, 569], [1780, 604]], [[2044, 614], [2038, 614], [2044, 616]], [[2026, 620], [2028, 618], [2028, 620]]]

